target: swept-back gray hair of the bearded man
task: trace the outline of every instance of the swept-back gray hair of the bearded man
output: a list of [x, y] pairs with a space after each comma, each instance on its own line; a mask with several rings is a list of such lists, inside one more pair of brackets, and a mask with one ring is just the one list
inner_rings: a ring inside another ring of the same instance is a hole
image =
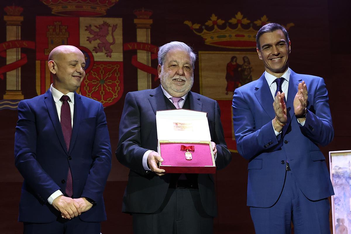
[[172, 41], [172, 42], [167, 43], [167, 44], [160, 46], [158, 48], [158, 64], [163, 66], [163, 64], [166, 60], [167, 53], [169, 51], [171, 51], [172, 49], [179, 49], [181, 51], [187, 52], [191, 58], [191, 63], [193, 65], [193, 69], [194, 69], [195, 61], [196, 61], [196, 54], [193, 52], [193, 49], [190, 46], [188, 46], [184, 42], [180, 42], [180, 41]]

